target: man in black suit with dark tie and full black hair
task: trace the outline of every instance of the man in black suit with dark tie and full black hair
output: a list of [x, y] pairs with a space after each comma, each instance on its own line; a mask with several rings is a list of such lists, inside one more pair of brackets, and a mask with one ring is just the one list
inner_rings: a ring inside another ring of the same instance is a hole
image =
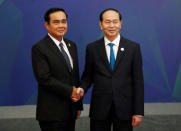
[[83, 109], [75, 43], [63, 38], [67, 14], [51, 8], [44, 16], [48, 35], [32, 47], [32, 65], [38, 81], [36, 119], [42, 131], [74, 131]]

